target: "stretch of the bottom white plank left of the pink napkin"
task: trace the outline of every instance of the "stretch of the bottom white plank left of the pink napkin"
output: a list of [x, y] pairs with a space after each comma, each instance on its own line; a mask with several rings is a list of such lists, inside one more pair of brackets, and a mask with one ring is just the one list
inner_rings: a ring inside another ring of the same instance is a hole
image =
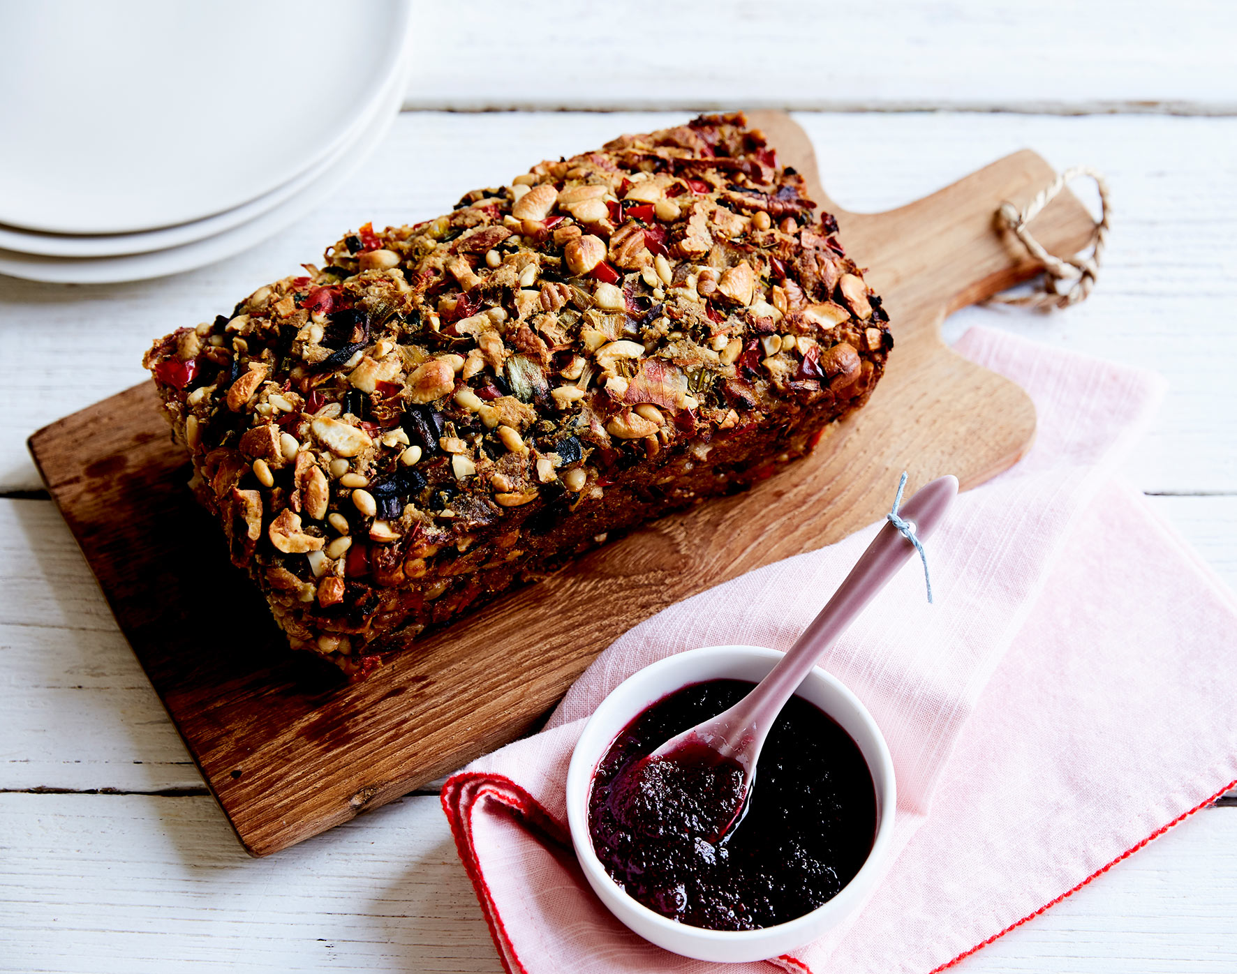
[[0, 970], [501, 970], [435, 796], [262, 862], [209, 797], [0, 795]]

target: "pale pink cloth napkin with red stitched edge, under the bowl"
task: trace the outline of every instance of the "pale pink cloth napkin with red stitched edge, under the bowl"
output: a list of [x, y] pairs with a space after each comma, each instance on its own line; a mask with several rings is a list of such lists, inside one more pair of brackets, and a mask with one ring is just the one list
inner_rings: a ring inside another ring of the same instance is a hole
[[[894, 854], [850, 925], [730, 970], [939, 970], [1237, 784], [1237, 602], [1113, 480], [1160, 381], [986, 329], [957, 349], [1030, 393], [1037, 443], [961, 494], [928, 544], [935, 604], [908, 564], [820, 664], [889, 742]], [[637, 625], [542, 733], [447, 782], [443, 807], [508, 972], [715, 969], [652, 947], [593, 896], [565, 837], [571, 748], [605, 695], [654, 660], [789, 648], [877, 528]]]

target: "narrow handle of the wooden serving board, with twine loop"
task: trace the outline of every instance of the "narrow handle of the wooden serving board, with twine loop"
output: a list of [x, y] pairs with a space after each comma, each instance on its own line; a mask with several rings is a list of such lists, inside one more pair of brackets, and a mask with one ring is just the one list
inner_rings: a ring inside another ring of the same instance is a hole
[[[997, 210], [1004, 201], [1021, 209], [1055, 178], [1043, 157], [1022, 150], [896, 210], [839, 211], [841, 240], [870, 268], [878, 294], [897, 290], [903, 300], [949, 314], [1043, 269]], [[1095, 236], [1095, 219], [1068, 189], [1029, 226], [1058, 255], [1077, 253]]]

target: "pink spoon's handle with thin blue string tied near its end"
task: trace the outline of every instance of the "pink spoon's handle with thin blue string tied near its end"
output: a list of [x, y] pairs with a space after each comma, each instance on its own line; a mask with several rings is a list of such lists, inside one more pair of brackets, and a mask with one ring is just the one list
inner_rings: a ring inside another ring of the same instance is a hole
[[[899, 514], [914, 523], [915, 535], [922, 541], [941, 522], [956, 494], [957, 478], [939, 477], [924, 485], [902, 506]], [[730, 727], [755, 728], [757, 739], [763, 740], [782, 707], [816, 665], [816, 660], [913, 554], [914, 545], [893, 524], [886, 523], [820, 614], [803, 630], [769, 675], [737, 705], [735, 711], [742, 708], [742, 713], [732, 712], [732, 717], [737, 719], [727, 722]]]

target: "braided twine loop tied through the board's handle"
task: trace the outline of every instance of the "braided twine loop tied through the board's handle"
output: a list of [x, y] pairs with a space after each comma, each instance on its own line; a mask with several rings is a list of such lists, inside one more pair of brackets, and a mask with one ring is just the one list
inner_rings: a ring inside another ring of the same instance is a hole
[[[1086, 257], [1066, 257], [1063, 260], [1044, 250], [1043, 245], [1032, 236], [1030, 230], [1027, 229], [1027, 224], [1034, 220], [1040, 210], [1051, 203], [1068, 183], [1080, 176], [1095, 179], [1095, 184], [1100, 190], [1100, 220], [1095, 225], [1091, 253]], [[1049, 311], [1053, 308], [1064, 309], [1085, 300], [1095, 287], [1096, 278], [1100, 274], [1100, 260], [1108, 242], [1110, 209], [1108, 182], [1097, 169], [1092, 169], [1090, 166], [1075, 166], [1066, 169], [1050, 185], [1044, 187], [1022, 210], [1008, 200], [1002, 203], [997, 210], [997, 218], [1018, 235], [1018, 240], [1022, 241], [1027, 252], [1043, 265], [1044, 283], [1030, 294], [1012, 297], [997, 294], [990, 298], [990, 300], [996, 304], [1017, 304], [1024, 308], [1033, 308], [1038, 311]]]

